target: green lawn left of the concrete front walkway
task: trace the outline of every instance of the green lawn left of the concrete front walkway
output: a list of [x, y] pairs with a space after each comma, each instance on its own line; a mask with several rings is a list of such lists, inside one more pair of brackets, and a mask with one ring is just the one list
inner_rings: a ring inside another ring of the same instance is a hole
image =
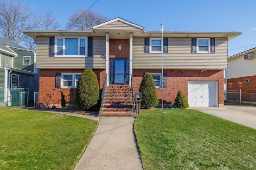
[[1, 170], [71, 170], [98, 121], [27, 109], [0, 110]]

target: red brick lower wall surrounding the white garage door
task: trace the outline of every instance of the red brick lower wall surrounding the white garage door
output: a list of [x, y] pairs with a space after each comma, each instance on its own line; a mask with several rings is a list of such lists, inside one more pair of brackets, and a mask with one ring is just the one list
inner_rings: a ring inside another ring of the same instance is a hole
[[[140, 82], [142, 81], [143, 74], [146, 72], [161, 73], [162, 70], [133, 70], [134, 93], [139, 91]], [[201, 72], [201, 70], [164, 70], [164, 73], [167, 74], [167, 87], [164, 88], [165, 104], [174, 104], [174, 99], [179, 90], [182, 90], [188, 99], [188, 81], [216, 80], [218, 81], [218, 104], [219, 106], [224, 105], [223, 70], [206, 70], [206, 72]], [[162, 88], [157, 88], [156, 92], [159, 101], [161, 101], [160, 103], [162, 103]]]

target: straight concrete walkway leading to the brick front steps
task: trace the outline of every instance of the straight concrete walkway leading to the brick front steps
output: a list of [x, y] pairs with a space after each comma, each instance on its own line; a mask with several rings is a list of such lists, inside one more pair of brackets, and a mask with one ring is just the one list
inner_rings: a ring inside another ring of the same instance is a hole
[[100, 117], [74, 170], [142, 170], [133, 123], [134, 117]]

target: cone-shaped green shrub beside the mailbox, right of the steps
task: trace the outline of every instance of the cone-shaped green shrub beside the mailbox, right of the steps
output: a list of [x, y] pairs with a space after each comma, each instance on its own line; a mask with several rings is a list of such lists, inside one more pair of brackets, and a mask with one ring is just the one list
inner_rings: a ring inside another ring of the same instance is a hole
[[153, 77], [148, 72], [142, 78], [139, 92], [142, 94], [140, 102], [142, 108], [148, 109], [158, 105], [156, 86]]

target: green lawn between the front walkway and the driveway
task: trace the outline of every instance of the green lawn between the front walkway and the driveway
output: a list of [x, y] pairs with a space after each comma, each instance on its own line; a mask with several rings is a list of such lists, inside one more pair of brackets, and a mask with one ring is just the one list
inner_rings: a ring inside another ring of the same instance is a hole
[[142, 110], [134, 130], [145, 170], [256, 168], [256, 129], [192, 109]]

